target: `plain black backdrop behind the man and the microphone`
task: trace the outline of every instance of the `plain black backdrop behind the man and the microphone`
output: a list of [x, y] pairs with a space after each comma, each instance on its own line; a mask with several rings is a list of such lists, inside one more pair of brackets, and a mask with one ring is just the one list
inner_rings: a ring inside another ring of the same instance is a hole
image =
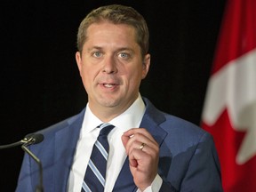
[[[84, 108], [76, 30], [87, 12], [103, 4], [132, 5], [148, 21], [152, 60], [141, 94], [200, 124], [225, 0], [3, 0], [0, 145]], [[20, 147], [0, 151], [0, 191], [14, 191], [22, 157]]]

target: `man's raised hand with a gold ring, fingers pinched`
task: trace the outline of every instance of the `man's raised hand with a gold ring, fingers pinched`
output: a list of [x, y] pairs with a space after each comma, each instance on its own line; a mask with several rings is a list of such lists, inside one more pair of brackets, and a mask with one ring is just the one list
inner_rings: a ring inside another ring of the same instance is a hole
[[156, 178], [159, 147], [152, 135], [144, 128], [132, 128], [124, 132], [122, 141], [135, 185], [145, 190]]

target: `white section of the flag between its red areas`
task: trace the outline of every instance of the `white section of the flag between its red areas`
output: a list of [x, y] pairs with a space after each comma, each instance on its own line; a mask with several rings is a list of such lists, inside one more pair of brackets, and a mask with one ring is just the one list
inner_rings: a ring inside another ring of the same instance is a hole
[[212, 126], [225, 108], [232, 127], [246, 132], [236, 156], [236, 163], [244, 164], [256, 155], [256, 49], [230, 61], [210, 78], [204, 123]]

